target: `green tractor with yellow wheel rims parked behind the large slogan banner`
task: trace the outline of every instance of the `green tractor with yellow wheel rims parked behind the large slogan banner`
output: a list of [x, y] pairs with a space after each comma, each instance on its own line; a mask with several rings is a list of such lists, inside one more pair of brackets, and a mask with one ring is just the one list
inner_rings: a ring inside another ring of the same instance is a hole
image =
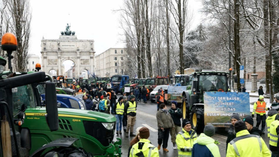
[[192, 128], [197, 133], [202, 133], [204, 130], [204, 92], [228, 92], [230, 74], [212, 70], [193, 72], [192, 75], [191, 89], [182, 93], [181, 110], [183, 119], [189, 119]]

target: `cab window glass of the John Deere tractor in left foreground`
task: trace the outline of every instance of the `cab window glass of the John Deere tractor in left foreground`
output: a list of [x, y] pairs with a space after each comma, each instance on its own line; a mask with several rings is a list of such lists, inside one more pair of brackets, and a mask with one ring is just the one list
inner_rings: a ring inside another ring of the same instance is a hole
[[23, 104], [26, 105], [27, 108], [36, 108], [36, 101], [32, 85], [15, 87], [12, 89], [12, 92], [14, 115], [16, 115], [21, 110], [21, 106]]

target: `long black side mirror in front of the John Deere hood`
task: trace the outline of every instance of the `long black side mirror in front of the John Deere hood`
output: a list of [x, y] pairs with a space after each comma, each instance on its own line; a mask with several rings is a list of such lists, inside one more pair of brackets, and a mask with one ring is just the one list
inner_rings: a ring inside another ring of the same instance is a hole
[[58, 107], [55, 83], [46, 82], [46, 121], [51, 131], [58, 130]]

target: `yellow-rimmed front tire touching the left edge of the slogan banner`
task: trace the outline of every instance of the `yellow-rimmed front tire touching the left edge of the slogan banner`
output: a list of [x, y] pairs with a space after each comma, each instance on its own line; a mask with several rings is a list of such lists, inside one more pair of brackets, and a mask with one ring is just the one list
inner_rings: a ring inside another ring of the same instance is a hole
[[191, 110], [191, 125], [197, 133], [204, 131], [204, 108], [193, 106]]

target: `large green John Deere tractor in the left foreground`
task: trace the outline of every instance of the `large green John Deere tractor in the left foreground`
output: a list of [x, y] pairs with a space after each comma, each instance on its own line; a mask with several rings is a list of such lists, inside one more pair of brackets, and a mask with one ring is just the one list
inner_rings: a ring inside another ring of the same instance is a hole
[[[121, 156], [121, 139], [112, 142], [113, 115], [58, 109], [52, 77], [45, 72], [12, 72], [11, 52], [16, 44], [2, 42], [2, 49], [8, 53], [10, 71], [1, 70], [6, 60], [0, 57], [0, 156]], [[37, 86], [48, 80], [46, 107], [42, 107]]]

